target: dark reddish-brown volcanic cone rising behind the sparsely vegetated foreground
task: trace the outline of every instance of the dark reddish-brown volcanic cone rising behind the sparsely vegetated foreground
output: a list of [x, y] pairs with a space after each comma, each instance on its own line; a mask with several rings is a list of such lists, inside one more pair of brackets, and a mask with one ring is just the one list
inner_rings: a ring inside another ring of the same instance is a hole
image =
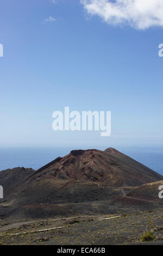
[[119, 197], [126, 200], [124, 187], [129, 192], [160, 180], [160, 174], [115, 149], [72, 150], [36, 171], [15, 168], [0, 172], [0, 184], [4, 186], [0, 215], [108, 212], [122, 207], [117, 201]]

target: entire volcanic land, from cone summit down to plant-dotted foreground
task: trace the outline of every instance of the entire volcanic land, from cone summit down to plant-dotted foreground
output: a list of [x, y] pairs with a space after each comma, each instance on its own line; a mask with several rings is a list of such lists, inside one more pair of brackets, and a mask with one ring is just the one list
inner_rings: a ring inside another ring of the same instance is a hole
[[2, 245], [162, 244], [163, 177], [119, 151], [73, 150], [0, 172]]

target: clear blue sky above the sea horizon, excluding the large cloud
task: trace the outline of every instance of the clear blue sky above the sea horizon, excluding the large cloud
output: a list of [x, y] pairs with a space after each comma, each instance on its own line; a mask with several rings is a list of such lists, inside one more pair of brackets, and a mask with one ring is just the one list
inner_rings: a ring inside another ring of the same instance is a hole
[[[114, 18], [86, 1], [1, 1], [2, 147], [163, 144], [163, 26]], [[111, 137], [53, 131], [52, 113], [65, 106], [111, 111]]]

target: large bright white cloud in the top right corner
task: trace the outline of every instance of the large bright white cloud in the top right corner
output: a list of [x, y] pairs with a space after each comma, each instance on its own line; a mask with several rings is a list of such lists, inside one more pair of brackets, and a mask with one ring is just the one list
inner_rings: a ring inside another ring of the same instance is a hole
[[163, 0], [80, 0], [90, 15], [109, 25], [128, 23], [136, 29], [163, 27]]

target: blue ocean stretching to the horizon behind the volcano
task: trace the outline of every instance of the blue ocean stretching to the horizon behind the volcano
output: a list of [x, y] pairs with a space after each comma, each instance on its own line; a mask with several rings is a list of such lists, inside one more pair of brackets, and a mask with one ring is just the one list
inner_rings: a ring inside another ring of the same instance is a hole
[[[0, 170], [25, 167], [39, 169], [73, 148], [0, 148]], [[105, 148], [99, 148], [104, 150]], [[163, 175], [163, 147], [116, 147], [145, 166]]]

